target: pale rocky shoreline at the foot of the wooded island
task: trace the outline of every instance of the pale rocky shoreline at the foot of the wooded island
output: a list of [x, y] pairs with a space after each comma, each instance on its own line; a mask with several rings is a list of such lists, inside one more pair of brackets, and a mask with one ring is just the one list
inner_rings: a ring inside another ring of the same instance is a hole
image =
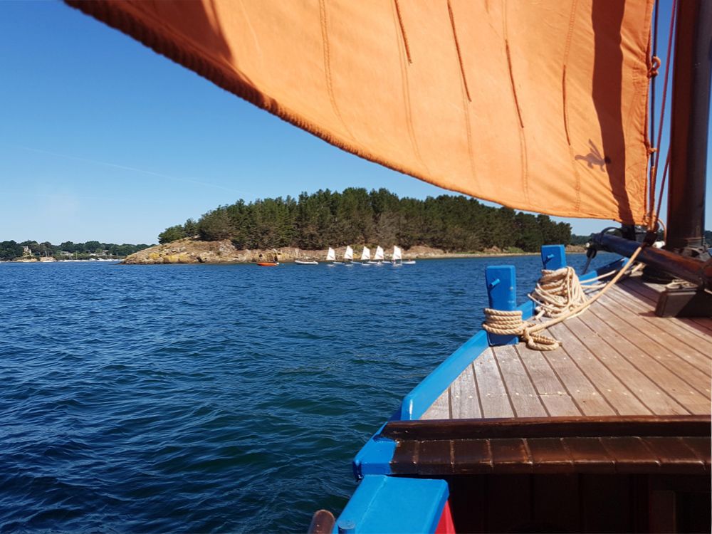
[[[360, 256], [361, 246], [355, 246], [355, 253]], [[580, 249], [580, 250], [579, 250]], [[345, 247], [335, 248], [336, 257], [342, 258]], [[567, 247], [567, 251], [581, 252], [582, 247]], [[142, 251], [127, 256], [122, 263], [128, 265], [155, 265], [169, 263], [253, 263], [256, 261], [273, 261], [290, 263], [295, 260], [325, 261], [326, 250], [304, 250], [301, 248], [283, 247], [270, 250], [247, 249], [239, 250], [229, 239], [222, 241], [200, 241], [195, 238], [179, 239], [162, 245], [145, 248]], [[414, 246], [403, 251], [403, 259], [436, 259], [436, 258], [478, 258], [486, 256], [524, 256], [533, 253], [504, 252], [498, 249], [466, 253], [446, 252], [439, 248]], [[387, 258], [388, 259], [388, 258]]]

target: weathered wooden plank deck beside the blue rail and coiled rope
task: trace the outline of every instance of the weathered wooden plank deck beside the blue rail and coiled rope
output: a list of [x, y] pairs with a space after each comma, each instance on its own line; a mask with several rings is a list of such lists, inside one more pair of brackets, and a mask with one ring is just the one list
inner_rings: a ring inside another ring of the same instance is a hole
[[712, 319], [656, 317], [658, 291], [619, 283], [548, 330], [557, 350], [486, 350], [422, 419], [710, 414]]

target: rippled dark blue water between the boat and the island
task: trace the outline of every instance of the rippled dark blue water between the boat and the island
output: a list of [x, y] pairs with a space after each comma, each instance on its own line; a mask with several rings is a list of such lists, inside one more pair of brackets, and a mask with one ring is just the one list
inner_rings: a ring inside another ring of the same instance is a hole
[[478, 330], [491, 263], [517, 266], [521, 299], [540, 268], [1, 263], [0, 530], [299, 532], [339, 512], [357, 450]]

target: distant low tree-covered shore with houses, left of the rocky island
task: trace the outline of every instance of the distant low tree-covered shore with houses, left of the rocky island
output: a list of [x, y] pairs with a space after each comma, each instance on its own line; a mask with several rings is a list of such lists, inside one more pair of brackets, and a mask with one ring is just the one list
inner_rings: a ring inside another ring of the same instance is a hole
[[14, 260], [22, 257], [36, 256], [62, 259], [62, 258], [88, 258], [90, 256], [123, 257], [148, 248], [147, 244], [115, 244], [100, 243], [99, 241], [85, 241], [85, 243], [64, 243], [53, 245], [49, 241], [0, 241], [0, 260]]

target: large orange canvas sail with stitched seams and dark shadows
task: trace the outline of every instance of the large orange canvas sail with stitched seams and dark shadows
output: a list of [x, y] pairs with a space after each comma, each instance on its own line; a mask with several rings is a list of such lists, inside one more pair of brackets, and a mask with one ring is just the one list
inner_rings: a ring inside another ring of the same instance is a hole
[[66, 0], [446, 189], [642, 223], [652, 0]]

